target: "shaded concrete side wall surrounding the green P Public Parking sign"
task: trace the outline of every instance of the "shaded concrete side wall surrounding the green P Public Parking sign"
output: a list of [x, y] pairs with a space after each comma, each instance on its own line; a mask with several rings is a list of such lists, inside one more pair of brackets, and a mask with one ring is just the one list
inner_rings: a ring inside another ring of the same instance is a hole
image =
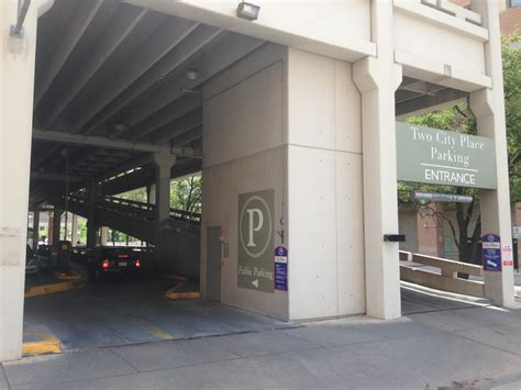
[[[206, 289], [206, 230], [221, 226], [230, 247], [230, 256], [221, 263], [221, 301], [281, 319], [288, 319], [286, 292], [237, 288], [237, 198], [274, 189], [275, 230], [281, 230], [286, 58], [286, 48], [267, 44], [203, 91], [201, 290]], [[275, 245], [281, 245], [278, 235]]]

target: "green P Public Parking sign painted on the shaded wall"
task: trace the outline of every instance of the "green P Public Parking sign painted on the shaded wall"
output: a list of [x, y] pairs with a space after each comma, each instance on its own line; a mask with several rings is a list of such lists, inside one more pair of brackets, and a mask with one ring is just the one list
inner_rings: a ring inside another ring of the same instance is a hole
[[274, 291], [275, 191], [239, 196], [239, 287]]

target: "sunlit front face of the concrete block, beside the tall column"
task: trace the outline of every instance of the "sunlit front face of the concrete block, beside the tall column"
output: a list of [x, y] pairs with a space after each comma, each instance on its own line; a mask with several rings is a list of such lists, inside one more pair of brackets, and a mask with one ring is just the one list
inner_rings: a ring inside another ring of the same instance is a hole
[[361, 94], [350, 64], [288, 62], [291, 319], [365, 312]]

